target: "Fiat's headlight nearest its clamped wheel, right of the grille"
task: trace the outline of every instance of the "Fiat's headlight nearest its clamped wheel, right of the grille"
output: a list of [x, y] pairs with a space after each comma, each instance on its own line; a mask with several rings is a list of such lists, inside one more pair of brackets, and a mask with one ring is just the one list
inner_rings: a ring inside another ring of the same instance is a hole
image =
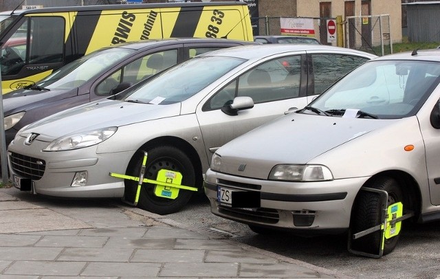
[[321, 165], [277, 165], [272, 168], [270, 180], [325, 181], [333, 180], [331, 171]]

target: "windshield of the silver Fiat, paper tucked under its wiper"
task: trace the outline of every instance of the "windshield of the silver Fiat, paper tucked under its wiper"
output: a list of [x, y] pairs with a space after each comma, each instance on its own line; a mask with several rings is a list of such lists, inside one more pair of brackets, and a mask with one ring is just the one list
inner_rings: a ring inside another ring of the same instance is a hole
[[367, 62], [311, 102], [303, 112], [345, 117], [408, 117], [417, 113], [439, 84], [439, 75], [440, 63]]

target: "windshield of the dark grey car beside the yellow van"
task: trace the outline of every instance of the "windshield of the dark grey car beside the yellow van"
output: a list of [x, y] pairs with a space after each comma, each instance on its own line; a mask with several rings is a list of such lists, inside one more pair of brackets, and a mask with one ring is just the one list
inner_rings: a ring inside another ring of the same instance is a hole
[[101, 49], [74, 60], [61, 67], [47, 78], [38, 82], [39, 87], [47, 89], [74, 89], [94, 78], [102, 71], [126, 59], [135, 52], [134, 49], [111, 48]]

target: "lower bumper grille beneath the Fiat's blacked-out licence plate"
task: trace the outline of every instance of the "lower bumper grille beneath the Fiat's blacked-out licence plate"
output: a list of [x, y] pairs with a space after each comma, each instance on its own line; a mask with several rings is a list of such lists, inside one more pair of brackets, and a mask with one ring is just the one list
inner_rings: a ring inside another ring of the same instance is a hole
[[218, 205], [219, 212], [231, 217], [245, 219], [248, 221], [256, 221], [259, 223], [275, 224], [278, 223], [280, 216], [278, 210], [270, 208], [257, 208], [256, 210], [243, 208], [230, 208], [224, 205]]

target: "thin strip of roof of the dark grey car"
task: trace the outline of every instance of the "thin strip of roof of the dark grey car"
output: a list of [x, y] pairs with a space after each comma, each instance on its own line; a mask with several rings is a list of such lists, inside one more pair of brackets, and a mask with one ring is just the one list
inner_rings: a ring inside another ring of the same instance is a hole
[[230, 40], [226, 38], [159, 38], [141, 41], [133, 41], [129, 43], [118, 43], [104, 48], [129, 48], [140, 50], [146, 47], [157, 47], [160, 45], [170, 45], [172, 43], [212, 43], [214, 44], [233, 44], [233, 45], [250, 45], [252, 41]]

